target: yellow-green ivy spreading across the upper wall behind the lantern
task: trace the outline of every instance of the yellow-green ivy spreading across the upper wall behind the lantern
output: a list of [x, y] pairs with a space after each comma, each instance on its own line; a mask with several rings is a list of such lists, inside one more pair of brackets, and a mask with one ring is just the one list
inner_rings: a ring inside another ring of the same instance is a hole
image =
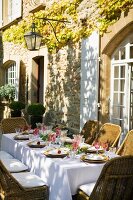
[[[108, 26], [116, 22], [121, 13], [127, 12], [133, 6], [133, 0], [54, 0], [47, 3], [45, 10], [29, 14], [29, 16], [3, 32], [3, 41], [24, 44], [24, 34], [30, 31], [34, 20], [36, 31], [43, 35], [42, 43], [49, 52], [57, 51], [68, 43], [78, 42], [87, 37], [94, 29], [101, 34], [106, 32]], [[56, 31], [48, 21], [38, 18], [51, 18], [67, 20], [71, 23], [51, 21]]]

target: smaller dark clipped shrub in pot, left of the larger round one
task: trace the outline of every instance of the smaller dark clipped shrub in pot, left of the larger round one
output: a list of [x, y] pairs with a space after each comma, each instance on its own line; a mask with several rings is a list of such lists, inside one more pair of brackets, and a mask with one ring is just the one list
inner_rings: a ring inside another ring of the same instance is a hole
[[25, 104], [21, 101], [12, 101], [9, 108], [11, 109], [11, 117], [21, 117], [21, 110], [25, 108]]

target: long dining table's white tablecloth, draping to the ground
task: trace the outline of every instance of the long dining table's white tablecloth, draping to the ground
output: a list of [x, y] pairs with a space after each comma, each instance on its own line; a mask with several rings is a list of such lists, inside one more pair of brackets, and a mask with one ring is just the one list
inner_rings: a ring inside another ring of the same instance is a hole
[[23, 162], [46, 182], [49, 200], [72, 200], [80, 185], [97, 181], [106, 163], [84, 162], [80, 154], [74, 158], [48, 157], [44, 153], [46, 146], [33, 148], [27, 145], [29, 140], [15, 140], [15, 136], [16, 133], [2, 134], [1, 150]]

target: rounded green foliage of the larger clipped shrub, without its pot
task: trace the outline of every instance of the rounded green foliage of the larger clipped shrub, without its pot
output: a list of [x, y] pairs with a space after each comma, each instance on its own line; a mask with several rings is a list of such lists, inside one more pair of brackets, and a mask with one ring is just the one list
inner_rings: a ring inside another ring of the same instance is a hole
[[27, 113], [34, 116], [43, 115], [45, 113], [45, 107], [41, 103], [29, 104], [27, 107]]

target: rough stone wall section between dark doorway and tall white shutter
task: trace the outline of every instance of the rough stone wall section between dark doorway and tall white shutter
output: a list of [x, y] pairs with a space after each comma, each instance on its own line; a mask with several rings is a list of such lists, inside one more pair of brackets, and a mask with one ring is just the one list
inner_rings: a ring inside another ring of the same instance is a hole
[[80, 44], [68, 46], [49, 56], [46, 106], [55, 120], [69, 127], [80, 126]]

